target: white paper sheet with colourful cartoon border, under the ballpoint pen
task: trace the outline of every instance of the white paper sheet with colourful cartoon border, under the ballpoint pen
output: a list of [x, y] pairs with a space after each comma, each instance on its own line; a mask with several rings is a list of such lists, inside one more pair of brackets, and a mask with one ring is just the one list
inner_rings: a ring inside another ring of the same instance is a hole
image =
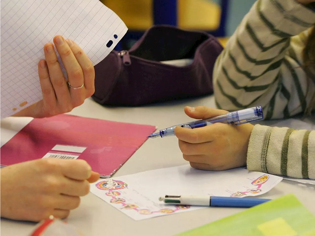
[[143, 220], [203, 208], [159, 202], [158, 198], [164, 195], [242, 198], [266, 193], [281, 180], [279, 176], [248, 171], [245, 168], [215, 172], [184, 165], [100, 179], [96, 184], [91, 184], [90, 192], [134, 220]]

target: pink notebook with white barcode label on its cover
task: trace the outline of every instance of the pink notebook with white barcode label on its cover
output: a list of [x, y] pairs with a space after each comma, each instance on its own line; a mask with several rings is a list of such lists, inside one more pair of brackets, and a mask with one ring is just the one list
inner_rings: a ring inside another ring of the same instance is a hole
[[86, 160], [102, 177], [117, 171], [156, 127], [57, 115], [0, 121], [0, 165], [39, 158]]

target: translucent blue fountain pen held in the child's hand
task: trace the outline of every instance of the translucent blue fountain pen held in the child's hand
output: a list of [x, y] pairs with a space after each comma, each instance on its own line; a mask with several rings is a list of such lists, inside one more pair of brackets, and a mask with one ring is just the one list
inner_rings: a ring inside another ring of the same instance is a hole
[[247, 109], [243, 109], [239, 111], [228, 112], [226, 113], [226, 115], [219, 115], [213, 118], [175, 125], [166, 129], [162, 129], [160, 130], [159, 133], [152, 133], [148, 136], [148, 138], [156, 138], [158, 136], [160, 136], [161, 138], [167, 137], [167, 136], [174, 136], [175, 135], [174, 129], [177, 126], [194, 129], [194, 128], [211, 125], [213, 123], [219, 123], [219, 122], [225, 123], [225, 124], [241, 125], [241, 124], [245, 124], [252, 121], [259, 121], [262, 119], [264, 119], [262, 107], [257, 106], [257, 107], [247, 108]]

